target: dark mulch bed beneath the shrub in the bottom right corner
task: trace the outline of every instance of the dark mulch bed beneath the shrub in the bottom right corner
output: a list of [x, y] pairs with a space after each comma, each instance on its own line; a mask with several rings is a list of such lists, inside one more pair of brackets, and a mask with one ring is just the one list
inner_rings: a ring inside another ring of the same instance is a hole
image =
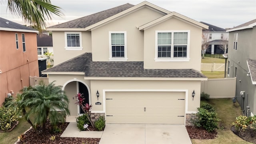
[[246, 140], [247, 142], [252, 142], [256, 144], [256, 131], [248, 128], [244, 132], [239, 132], [236, 130], [235, 126], [231, 127], [232, 132], [242, 138], [243, 140]]

